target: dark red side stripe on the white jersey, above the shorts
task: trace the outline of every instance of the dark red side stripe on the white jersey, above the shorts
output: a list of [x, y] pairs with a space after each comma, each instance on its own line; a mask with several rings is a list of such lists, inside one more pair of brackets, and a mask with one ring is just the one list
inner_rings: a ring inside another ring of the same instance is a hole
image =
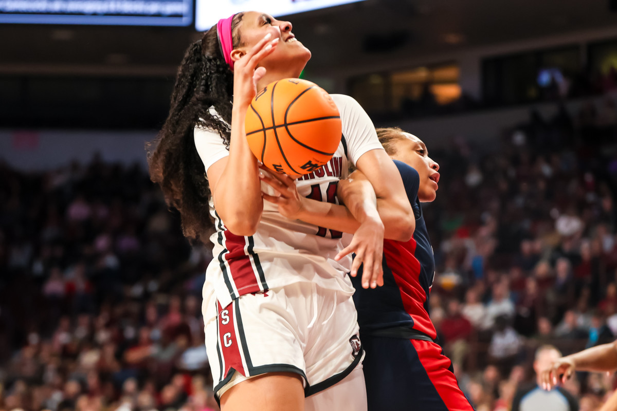
[[259, 275], [255, 275], [251, 264], [251, 256], [246, 254], [246, 237], [233, 234], [229, 230], [223, 232], [228, 253], [225, 261], [230, 268], [231, 281], [238, 290], [238, 297], [244, 294], [262, 291], [259, 287]]

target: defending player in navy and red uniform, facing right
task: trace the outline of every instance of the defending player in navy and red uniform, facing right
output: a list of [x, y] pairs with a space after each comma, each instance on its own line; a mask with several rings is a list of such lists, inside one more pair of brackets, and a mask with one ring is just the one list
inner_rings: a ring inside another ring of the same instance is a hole
[[[407, 242], [384, 241], [383, 287], [365, 290], [359, 277], [352, 279], [366, 351], [368, 410], [473, 410], [458, 387], [452, 363], [435, 341], [428, 314], [435, 263], [420, 203], [435, 199], [439, 165], [418, 137], [399, 128], [377, 132], [402, 176], [416, 227]], [[342, 181], [342, 197], [363, 180], [362, 171], [355, 171]]]

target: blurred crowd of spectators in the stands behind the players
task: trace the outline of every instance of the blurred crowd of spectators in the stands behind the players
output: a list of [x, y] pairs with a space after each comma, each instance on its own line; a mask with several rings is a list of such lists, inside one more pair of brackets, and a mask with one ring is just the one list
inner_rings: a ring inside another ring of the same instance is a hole
[[[617, 335], [615, 100], [531, 112], [490, 147], [419, 137], [442, 174], [424, 205], [431, 317], [476, 410], [509, 410], [536, 348]], [[145, 170], [0, 163], [0, 198], [0, 410], [218, 409], [200, 309], [212, 255]], [[591, 411], [614, 385], [579, 373], [566, 389]]]

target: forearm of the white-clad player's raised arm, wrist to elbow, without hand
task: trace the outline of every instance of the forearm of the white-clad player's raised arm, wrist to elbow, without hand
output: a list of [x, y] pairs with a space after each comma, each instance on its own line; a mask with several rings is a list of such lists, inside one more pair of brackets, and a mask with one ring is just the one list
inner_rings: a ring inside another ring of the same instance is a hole
[[229, 160], [213, 190], [215, 208], [225, 226], [236, 235], [253, 235], [263, 212], [257, 159], [244, 134], [246, 110], [231, 117]]

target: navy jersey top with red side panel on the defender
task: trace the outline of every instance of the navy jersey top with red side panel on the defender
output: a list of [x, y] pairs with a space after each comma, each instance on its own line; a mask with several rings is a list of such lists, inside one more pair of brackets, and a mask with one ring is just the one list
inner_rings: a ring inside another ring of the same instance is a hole
[[384, 240], [382, 287], [362, 288], [362, 271], [352, 279], [360, 335], [413, 338], [415, 330], [435, 340], [437, 333], [429, 318], [428, 306], [435, 261], [418, 201], [420, 176], [407, 164], [397, 160], [394, 163], [413, 206], [416, 229], [408, 242]]

